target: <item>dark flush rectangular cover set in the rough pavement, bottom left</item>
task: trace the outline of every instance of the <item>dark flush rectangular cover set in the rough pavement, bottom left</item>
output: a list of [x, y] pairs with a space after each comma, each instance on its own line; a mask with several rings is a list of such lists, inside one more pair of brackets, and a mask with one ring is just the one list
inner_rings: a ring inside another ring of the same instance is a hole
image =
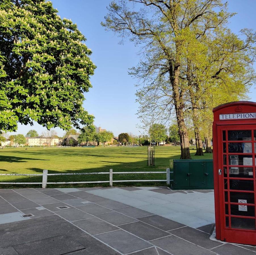
[[52, 255], [67, 254], [68, 252], [80, 250], [85, 247], [77, 243], [72, 238], [66, 235], [61, 235], [44, 240], [15, 245], [14, 248], [19, 254]]

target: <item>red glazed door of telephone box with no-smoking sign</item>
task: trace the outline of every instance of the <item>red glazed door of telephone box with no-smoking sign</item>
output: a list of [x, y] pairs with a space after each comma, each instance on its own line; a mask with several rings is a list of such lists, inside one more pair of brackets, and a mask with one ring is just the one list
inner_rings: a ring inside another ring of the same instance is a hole
[[256, 245], [256, 127], [219, 125], [217, 140], [220, 239]]

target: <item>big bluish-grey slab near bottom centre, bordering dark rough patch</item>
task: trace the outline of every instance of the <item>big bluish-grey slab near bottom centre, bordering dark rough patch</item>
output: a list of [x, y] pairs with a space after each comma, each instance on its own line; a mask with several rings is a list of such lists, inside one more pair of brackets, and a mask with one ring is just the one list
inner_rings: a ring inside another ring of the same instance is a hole
[[97, 235], [97, 238], [123, 254], [142, 250], [151, 246], [149, 243], [123, 230], [100, 234]]

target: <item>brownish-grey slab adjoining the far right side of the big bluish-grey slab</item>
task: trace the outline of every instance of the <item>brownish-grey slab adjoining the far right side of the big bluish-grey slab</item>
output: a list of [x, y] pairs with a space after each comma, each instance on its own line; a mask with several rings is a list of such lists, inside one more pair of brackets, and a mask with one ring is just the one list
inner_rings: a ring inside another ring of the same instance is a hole
[[140, 221], [121, 225], [119, 227], [147, 241], [170, 235], [165, 231]]

